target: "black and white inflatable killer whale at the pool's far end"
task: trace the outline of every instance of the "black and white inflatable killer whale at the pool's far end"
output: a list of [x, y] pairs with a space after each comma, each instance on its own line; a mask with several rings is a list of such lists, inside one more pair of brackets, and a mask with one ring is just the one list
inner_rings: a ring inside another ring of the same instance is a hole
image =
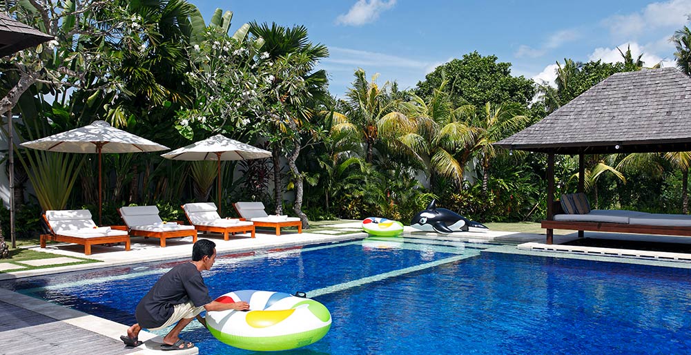
[[426, 232], [453, 233], [453, 232], [486, 232], [489, 230], [484, 224], [468, 220], [446, 208], [437, 208], [435, 200], [432, 200], [427, 209], [419, 212], [410, 226]]

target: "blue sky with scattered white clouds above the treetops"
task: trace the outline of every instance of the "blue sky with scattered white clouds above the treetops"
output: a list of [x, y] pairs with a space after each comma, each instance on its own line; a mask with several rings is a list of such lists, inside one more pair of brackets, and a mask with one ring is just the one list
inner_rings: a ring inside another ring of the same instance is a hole
[[477, 51], [511, 62], [513, 75], [554, 78], [555, 62], [621, 60], [630, 45], [647, 66], [674, 66], [675, 30], [689, 26], [691, 0], [441, 1], [441, 0], [191, 0], [209, 21], [231, 10], [231, 32], [249, 21], [307, 27], [329, 48], [320, 64], [330, 91], [342, 97], [362, 68], [377, 82], [413, 88], [435, 66]]

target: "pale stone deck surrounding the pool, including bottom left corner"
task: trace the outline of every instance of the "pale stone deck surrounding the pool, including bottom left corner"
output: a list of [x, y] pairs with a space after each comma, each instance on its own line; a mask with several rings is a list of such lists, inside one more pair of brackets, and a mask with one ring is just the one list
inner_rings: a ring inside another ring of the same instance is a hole
[[[270, 230], [261, 230], [256, 233], [256, 238], [254, 239], [249, 238], [249, 235], [236, 235], [231, 237], [229, 241], [214, 235], [200, 235], [200, 237], [216, 242], [216, 250], [221, 255], [292, 248], [304, 244], [340, 242], [366, 237], [366, 234], [361, 232], [359, 221], [332, 224], [328, 227], [328, 229], [316, 232], [305, 230], [301, 234], [285, 232], [280, 236], [274, 235]], [[406, 227], [405, 232], [411, 237], [419, 236], [429, 239], [442, 237], [435, 233], [422, 233], [410, 227]], [[577, 255], [578, 253], [540, 250], [540, 244], [545, 241], [544, 234], [491, 230], [488, 233], [451, 233], [443, 237], [444, 239], [497, 244], [497, 246], [486, 250], [493, 253], [578, 257], [599, 261], [613, 261], [614, 259], [606, 255]], [[576, 237], [576, 233], [555, 235], [555, 242], [563, 243], [576, 239]], [[538, 246], [538, 248], [529, 248], [527, 246]], [[55, 258], [33, 261], [35, 265], [46, 264], [50, 267], [24, 271], [21, 269], [16, 271], [7, 269], [6, 273], [0, 273], [0, 280], [161, 260], [185, 259], [191, 256], [191, 237], [169, 239], [165, 248], [160, 248], [158, 239], [143, 239], [141, 237], [132, 238], [131, 251], [124, 251], [122, 246], [94, 246], [93, 254], [86, 258], [97, 260], [98, 262], [77, 265], [64, 264], [73, 262], [77, 260], [76, 258], [84, 258], [82, 246], [49, 244], [48, 248], [39, 248], [38, 246], [33, 248], [37, 251], [55, 254]], [[691, 263], [670, 263], [657, 260], [622, 261], [621, 258], [618, 259], [620, 259], [618, 262], [691, 267]], [[30, 265], [29, 262], [26, 262], [26, 264]], [[0, 268], [1, 266], [0, 264]], [[10, 264], [9, 267], [16, 266], [16, 264]], [[22, 266], [19, 267], [21, 268]], [[162, 338], [160, 336], [142, 331], [140, 340], [144, 340], [144, 345], [133, 349], [127, 348], [120, 341], [120, 335], [125, 334], [127, 325], [91, 316], [81, 311], [61, 307], [57, 304], [31, 298], [6, 289], [0, 289], [0, 312], [3, 314], [3, 317], [0, 317], [2, 318], [0, 320], [0, 343], [4, 347], [0, 354], [83, 355], [93, 354], [94, 349], [98, 349], [98, 354], [162, 354], [162, 350], [160, 350]], [[175, 354], [198, 354], [198, 349], [178, 351]]]

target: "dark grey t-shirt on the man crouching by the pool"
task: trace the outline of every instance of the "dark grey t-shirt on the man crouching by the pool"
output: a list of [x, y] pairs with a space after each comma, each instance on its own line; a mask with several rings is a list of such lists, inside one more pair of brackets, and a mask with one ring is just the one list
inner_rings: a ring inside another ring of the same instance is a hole
[[135, 317], [143, 328], [156, 328], [173, 315], [173, 307], [192, 301], [195, 307], [211, 302], [202, 273], [191, 262], [171, 268], [153, 285], [137, 305]]

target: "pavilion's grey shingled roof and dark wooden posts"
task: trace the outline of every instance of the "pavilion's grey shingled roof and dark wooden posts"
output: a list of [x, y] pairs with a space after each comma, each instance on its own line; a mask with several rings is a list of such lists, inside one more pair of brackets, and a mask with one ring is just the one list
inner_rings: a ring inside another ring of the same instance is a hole
[[554, 154], [578, 154], [582, 192], [584, 154], [691, 151], [691, 78], [674, 68], [616, 73], [495, 145], [548, 154], [551, 219]]

